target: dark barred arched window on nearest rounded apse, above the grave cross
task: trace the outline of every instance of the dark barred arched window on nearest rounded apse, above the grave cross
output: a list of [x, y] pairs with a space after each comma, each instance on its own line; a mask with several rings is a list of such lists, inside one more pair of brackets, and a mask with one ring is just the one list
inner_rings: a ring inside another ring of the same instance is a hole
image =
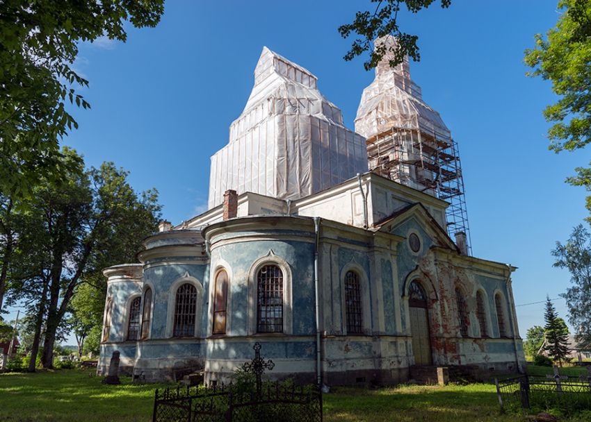
[[265, 265], [257, 275], [257, 332], [283, 332], [283, 273]]

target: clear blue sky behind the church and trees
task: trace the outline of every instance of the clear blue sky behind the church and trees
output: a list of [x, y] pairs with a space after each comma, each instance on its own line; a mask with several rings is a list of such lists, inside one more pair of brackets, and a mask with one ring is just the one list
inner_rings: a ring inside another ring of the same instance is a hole
[[[451, 8], [400, 14], [419, 35], [411, 63], [423, 99], [458, 141], [474, 255], [519, 267], [517, 305], [565, 291], [551, 249], [587, 212], [585, 192], [564, 183], [588, 151], [548, 151], [544, 105], [551, 85], [528, 78], [524, 50], [558, 19], [557, 0], [454, 0]], [[229, 124], [252, 88], [263, 46], [306, 67], [323, 94], [353, 119], [373, 72], [345, 62], [337, 33], [366, 1], [168, 1], [156, 28], [129, 28], [127, 43], [82, 44], [76, 69], [90, 81], [64, 144], [89, 165], [113, 161], [138, 190], [156, 187], [173, 223], [205, 210], [209, 157], [227, 144]], [[519, 327], [543, 323], [543, 303], [517, 307]], [[562, 299], [556, 301], [566, 315]], [[72, 339], [73, 341], [73, 339]]]

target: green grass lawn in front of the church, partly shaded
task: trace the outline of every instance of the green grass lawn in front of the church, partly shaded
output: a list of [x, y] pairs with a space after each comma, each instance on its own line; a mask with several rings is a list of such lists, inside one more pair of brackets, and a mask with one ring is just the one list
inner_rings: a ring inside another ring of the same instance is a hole
[[[131, 378], [122, 378], [119, 386], [102, 385], [89, 373], [72, 369], [0, 374], [0, 421], [150, 421], [154, 389], [164, 385], [133, 385]], [[526, 421], [524, 416], [501, 414], [496, 390], [489, 384], [337, 387], [325, 394], [324, 412], [328, 422]]]

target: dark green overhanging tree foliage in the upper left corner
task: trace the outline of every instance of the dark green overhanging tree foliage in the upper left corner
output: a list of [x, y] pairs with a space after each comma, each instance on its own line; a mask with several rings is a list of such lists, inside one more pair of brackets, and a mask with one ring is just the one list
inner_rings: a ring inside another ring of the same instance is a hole
[[0, 192], [26, 195], [43, 175], [65, 174], [59, 141], [76, 121], [66, 103], [88, 108], [74, 87], [81, 41], [125, 41], [126, 22], [156, 26], [163, 0], [0, 2]]

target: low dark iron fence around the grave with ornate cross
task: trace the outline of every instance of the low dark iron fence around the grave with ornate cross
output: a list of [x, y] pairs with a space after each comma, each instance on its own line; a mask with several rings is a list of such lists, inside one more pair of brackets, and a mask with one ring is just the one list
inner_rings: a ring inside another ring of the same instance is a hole
[[156, 390], [153, 422], [322, 422], [322, 392], [314, 385], [266, 382], [261, 394], [226, 387]]

